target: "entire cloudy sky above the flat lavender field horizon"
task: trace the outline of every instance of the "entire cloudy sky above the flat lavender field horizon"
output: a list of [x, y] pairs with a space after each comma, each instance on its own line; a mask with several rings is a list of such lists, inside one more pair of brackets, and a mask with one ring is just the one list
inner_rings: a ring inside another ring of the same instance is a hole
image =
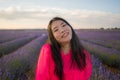
[[120, 28], [120, 0], [0, 0], [0, 29], [46, 29], [56, 16], [74, 29]]

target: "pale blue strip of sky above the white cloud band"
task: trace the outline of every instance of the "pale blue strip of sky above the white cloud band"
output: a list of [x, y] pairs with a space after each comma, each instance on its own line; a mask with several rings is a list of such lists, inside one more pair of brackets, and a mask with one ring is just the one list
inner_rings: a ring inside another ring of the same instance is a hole
[[71, 9], [102, 10], [120, 13], [120, 0], [1, 0], [0, 7], [43, 6]]

